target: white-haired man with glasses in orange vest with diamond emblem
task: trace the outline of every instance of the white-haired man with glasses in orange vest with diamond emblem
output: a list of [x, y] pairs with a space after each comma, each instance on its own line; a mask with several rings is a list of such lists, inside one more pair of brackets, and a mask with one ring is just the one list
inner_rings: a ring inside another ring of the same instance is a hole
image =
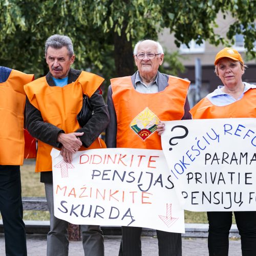
[[[159, 42], [139, 41], [134, 48], [138, 71], [111, 79], [108, 92], [110, 124], [108, 147], [161, 150], [157, 134], [160, 120], [191, 119], [187, 90], [189, 81], [162, 74], [158, 68], [164, 53]], [[118, 124], [118, 125], [117, 125]], [[122, 227], [119, 256], [141, 255], [141, 227]], [[157, 230], [159, 255], [181, 255], [181, 234]]]

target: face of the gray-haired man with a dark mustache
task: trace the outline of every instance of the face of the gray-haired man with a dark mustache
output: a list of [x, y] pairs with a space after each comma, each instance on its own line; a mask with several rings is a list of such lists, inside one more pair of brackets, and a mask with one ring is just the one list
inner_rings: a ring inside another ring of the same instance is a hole
[[68, 76], [70, 66], [74, 63], [75, 55], [71, 58], [67, 47], [55, 49], [49, 47], [46, 53], [46, 63], [52, 76], [56, 79], [62, 79]]

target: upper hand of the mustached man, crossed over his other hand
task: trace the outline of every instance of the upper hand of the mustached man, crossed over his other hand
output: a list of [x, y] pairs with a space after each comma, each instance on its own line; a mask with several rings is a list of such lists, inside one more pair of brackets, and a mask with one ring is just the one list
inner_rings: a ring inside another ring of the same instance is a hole
[[77, 137], [82, 135], [83, 133], [59, 133], [57, 142], [60, 142], [69, 152], [76, 153], [82, 145], [81, 140]]

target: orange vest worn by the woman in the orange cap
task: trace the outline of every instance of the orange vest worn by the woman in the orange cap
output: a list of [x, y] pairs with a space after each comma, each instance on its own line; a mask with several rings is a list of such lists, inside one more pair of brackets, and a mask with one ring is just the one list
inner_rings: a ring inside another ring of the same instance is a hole
[[225, 106], [203, 98], [189, 112], [193, 119], [256, 117], [256, 89], [249, 89], [242, 99]]

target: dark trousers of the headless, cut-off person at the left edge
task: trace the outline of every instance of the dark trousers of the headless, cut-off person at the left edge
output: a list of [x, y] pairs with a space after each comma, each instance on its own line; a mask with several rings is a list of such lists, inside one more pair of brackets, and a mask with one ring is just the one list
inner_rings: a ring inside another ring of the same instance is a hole
[[8, 256], [27, 255], [19, 166], [0, 165], [0, 211]]

